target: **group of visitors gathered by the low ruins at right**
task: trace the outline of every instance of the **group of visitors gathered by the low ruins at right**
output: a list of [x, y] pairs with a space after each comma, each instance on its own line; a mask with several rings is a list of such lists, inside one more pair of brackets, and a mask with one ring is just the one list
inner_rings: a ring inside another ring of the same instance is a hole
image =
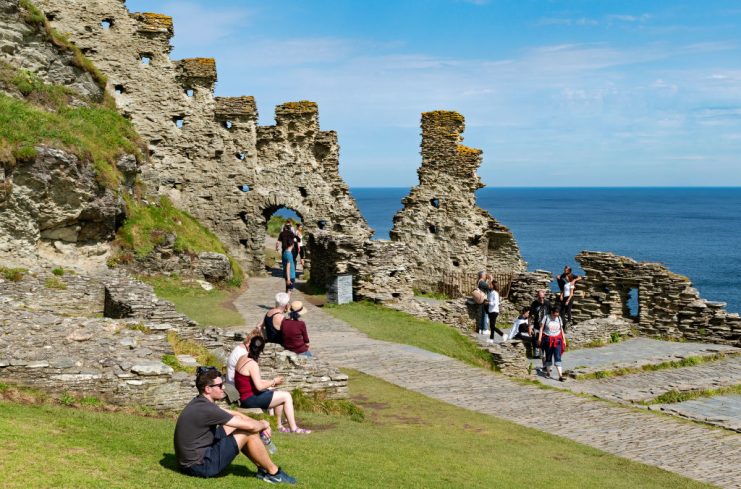
[[561, 355], [566, 350], [566, 326], [572, 321], [574, 291], [581, 277], [574, 275], [567, 265], [556, 280], [559, 286], [558, 304], [551, 304], [545, 290], [538, 291], [530, 307], [520, 310], [509, 333], [504, 333], [496, 327], [501, 301], [499, 287], [491, 274], [479, 272], [477, 288], [486, 298], [481, 304], [478, 332], [489, 335], [489, 344], [494, 343], [494, 333], [499, 334], [502, 341], [522, 340], [528, 346], [530, 356], [542, 360], [542, 371], [546, 377], [551, 376], [551, 368], [555, 366], [558, 380], [563, 382]]

